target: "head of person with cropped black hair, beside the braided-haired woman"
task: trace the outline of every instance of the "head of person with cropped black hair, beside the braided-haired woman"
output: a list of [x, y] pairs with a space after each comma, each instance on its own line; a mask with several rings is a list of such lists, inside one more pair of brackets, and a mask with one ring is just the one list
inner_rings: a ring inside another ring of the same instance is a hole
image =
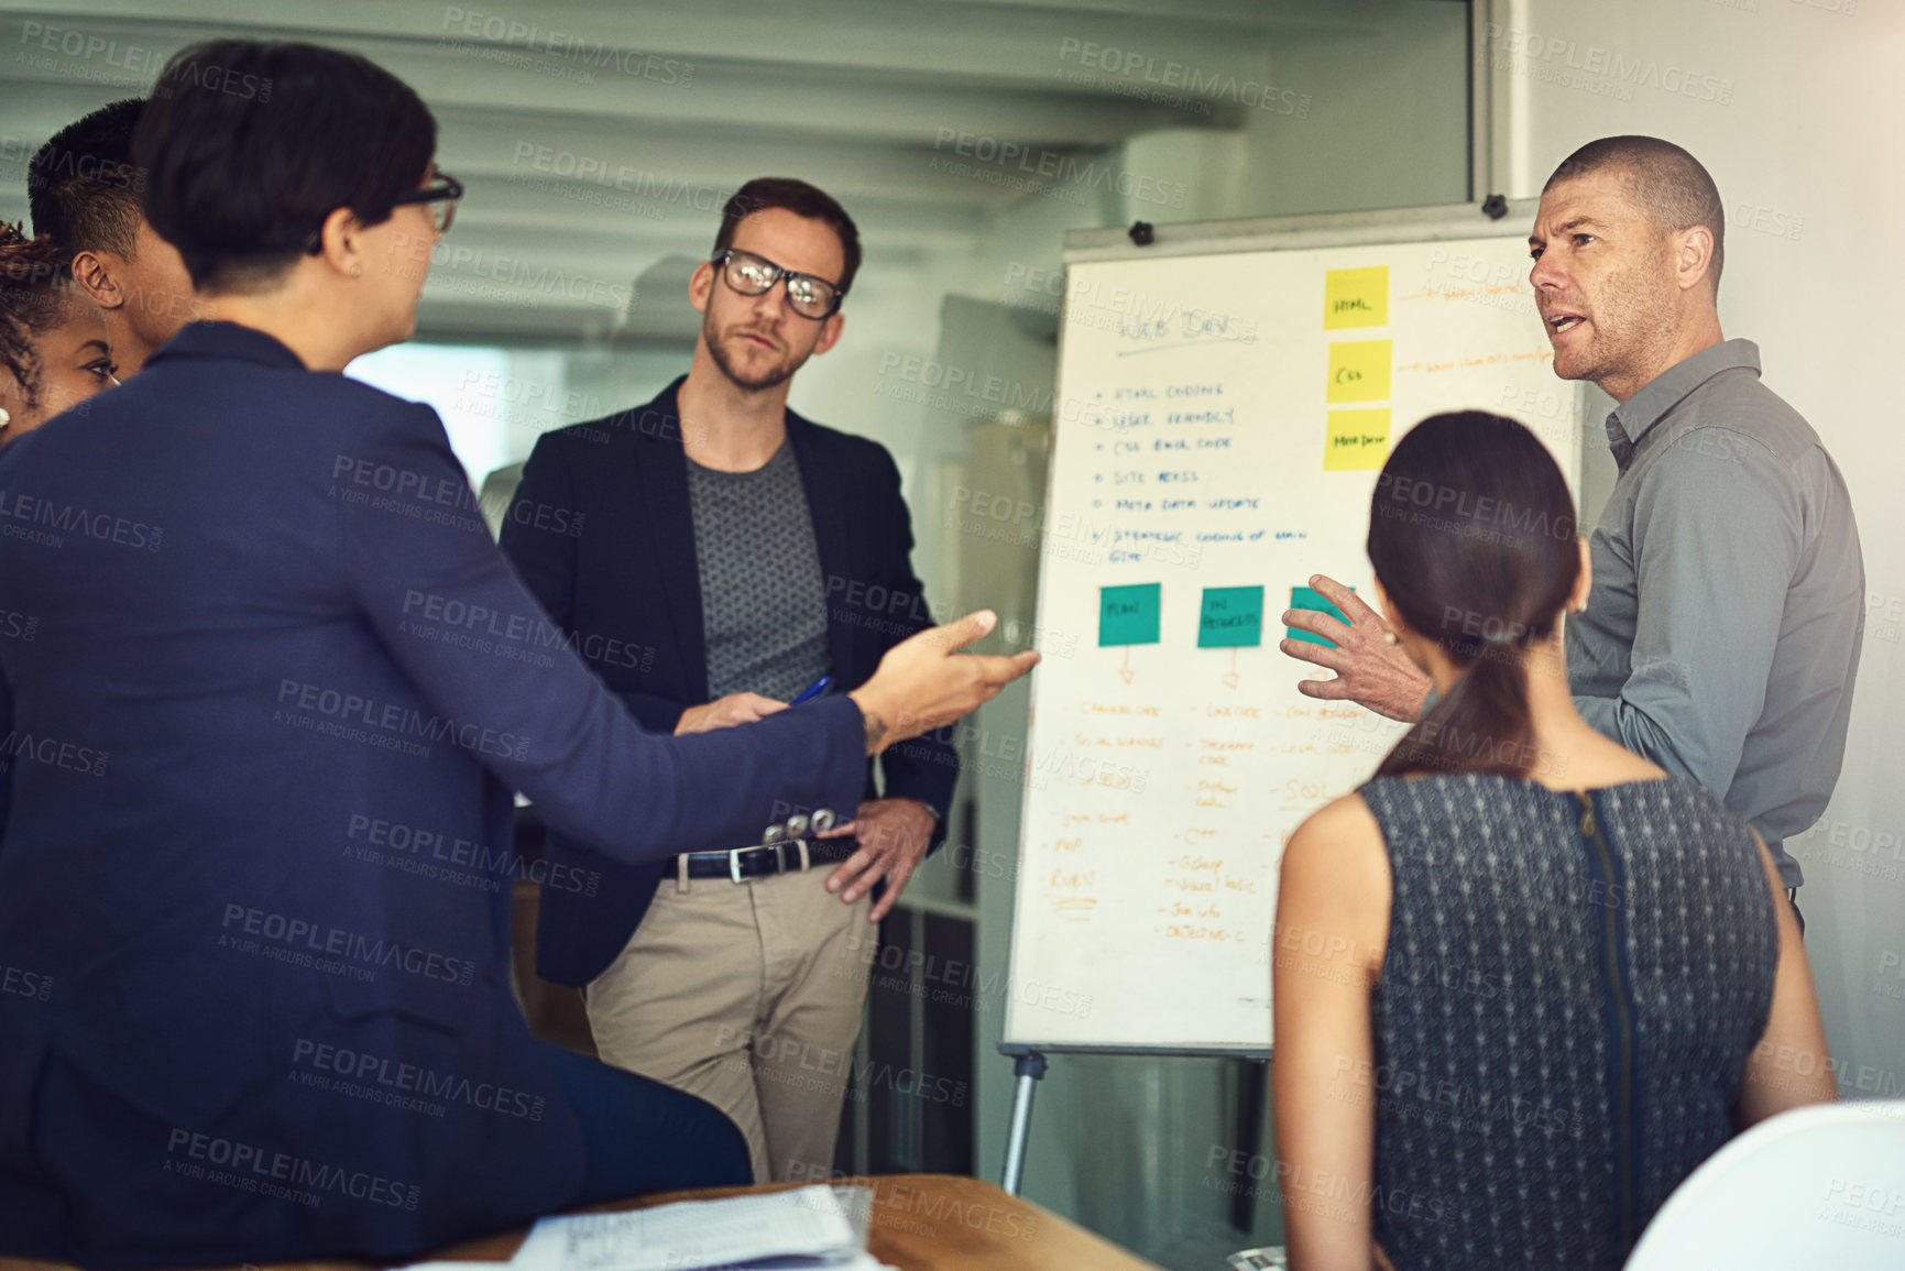
[[27, 166], [34, 234], [59, 244], [105, 314], [120, 379], [194, 314], [179, 250], [152, 232], [139, 206], [145, 171], [131, 162], [131, 133], [143, 111], [137, 97], [99, 107], [53, 133]]

